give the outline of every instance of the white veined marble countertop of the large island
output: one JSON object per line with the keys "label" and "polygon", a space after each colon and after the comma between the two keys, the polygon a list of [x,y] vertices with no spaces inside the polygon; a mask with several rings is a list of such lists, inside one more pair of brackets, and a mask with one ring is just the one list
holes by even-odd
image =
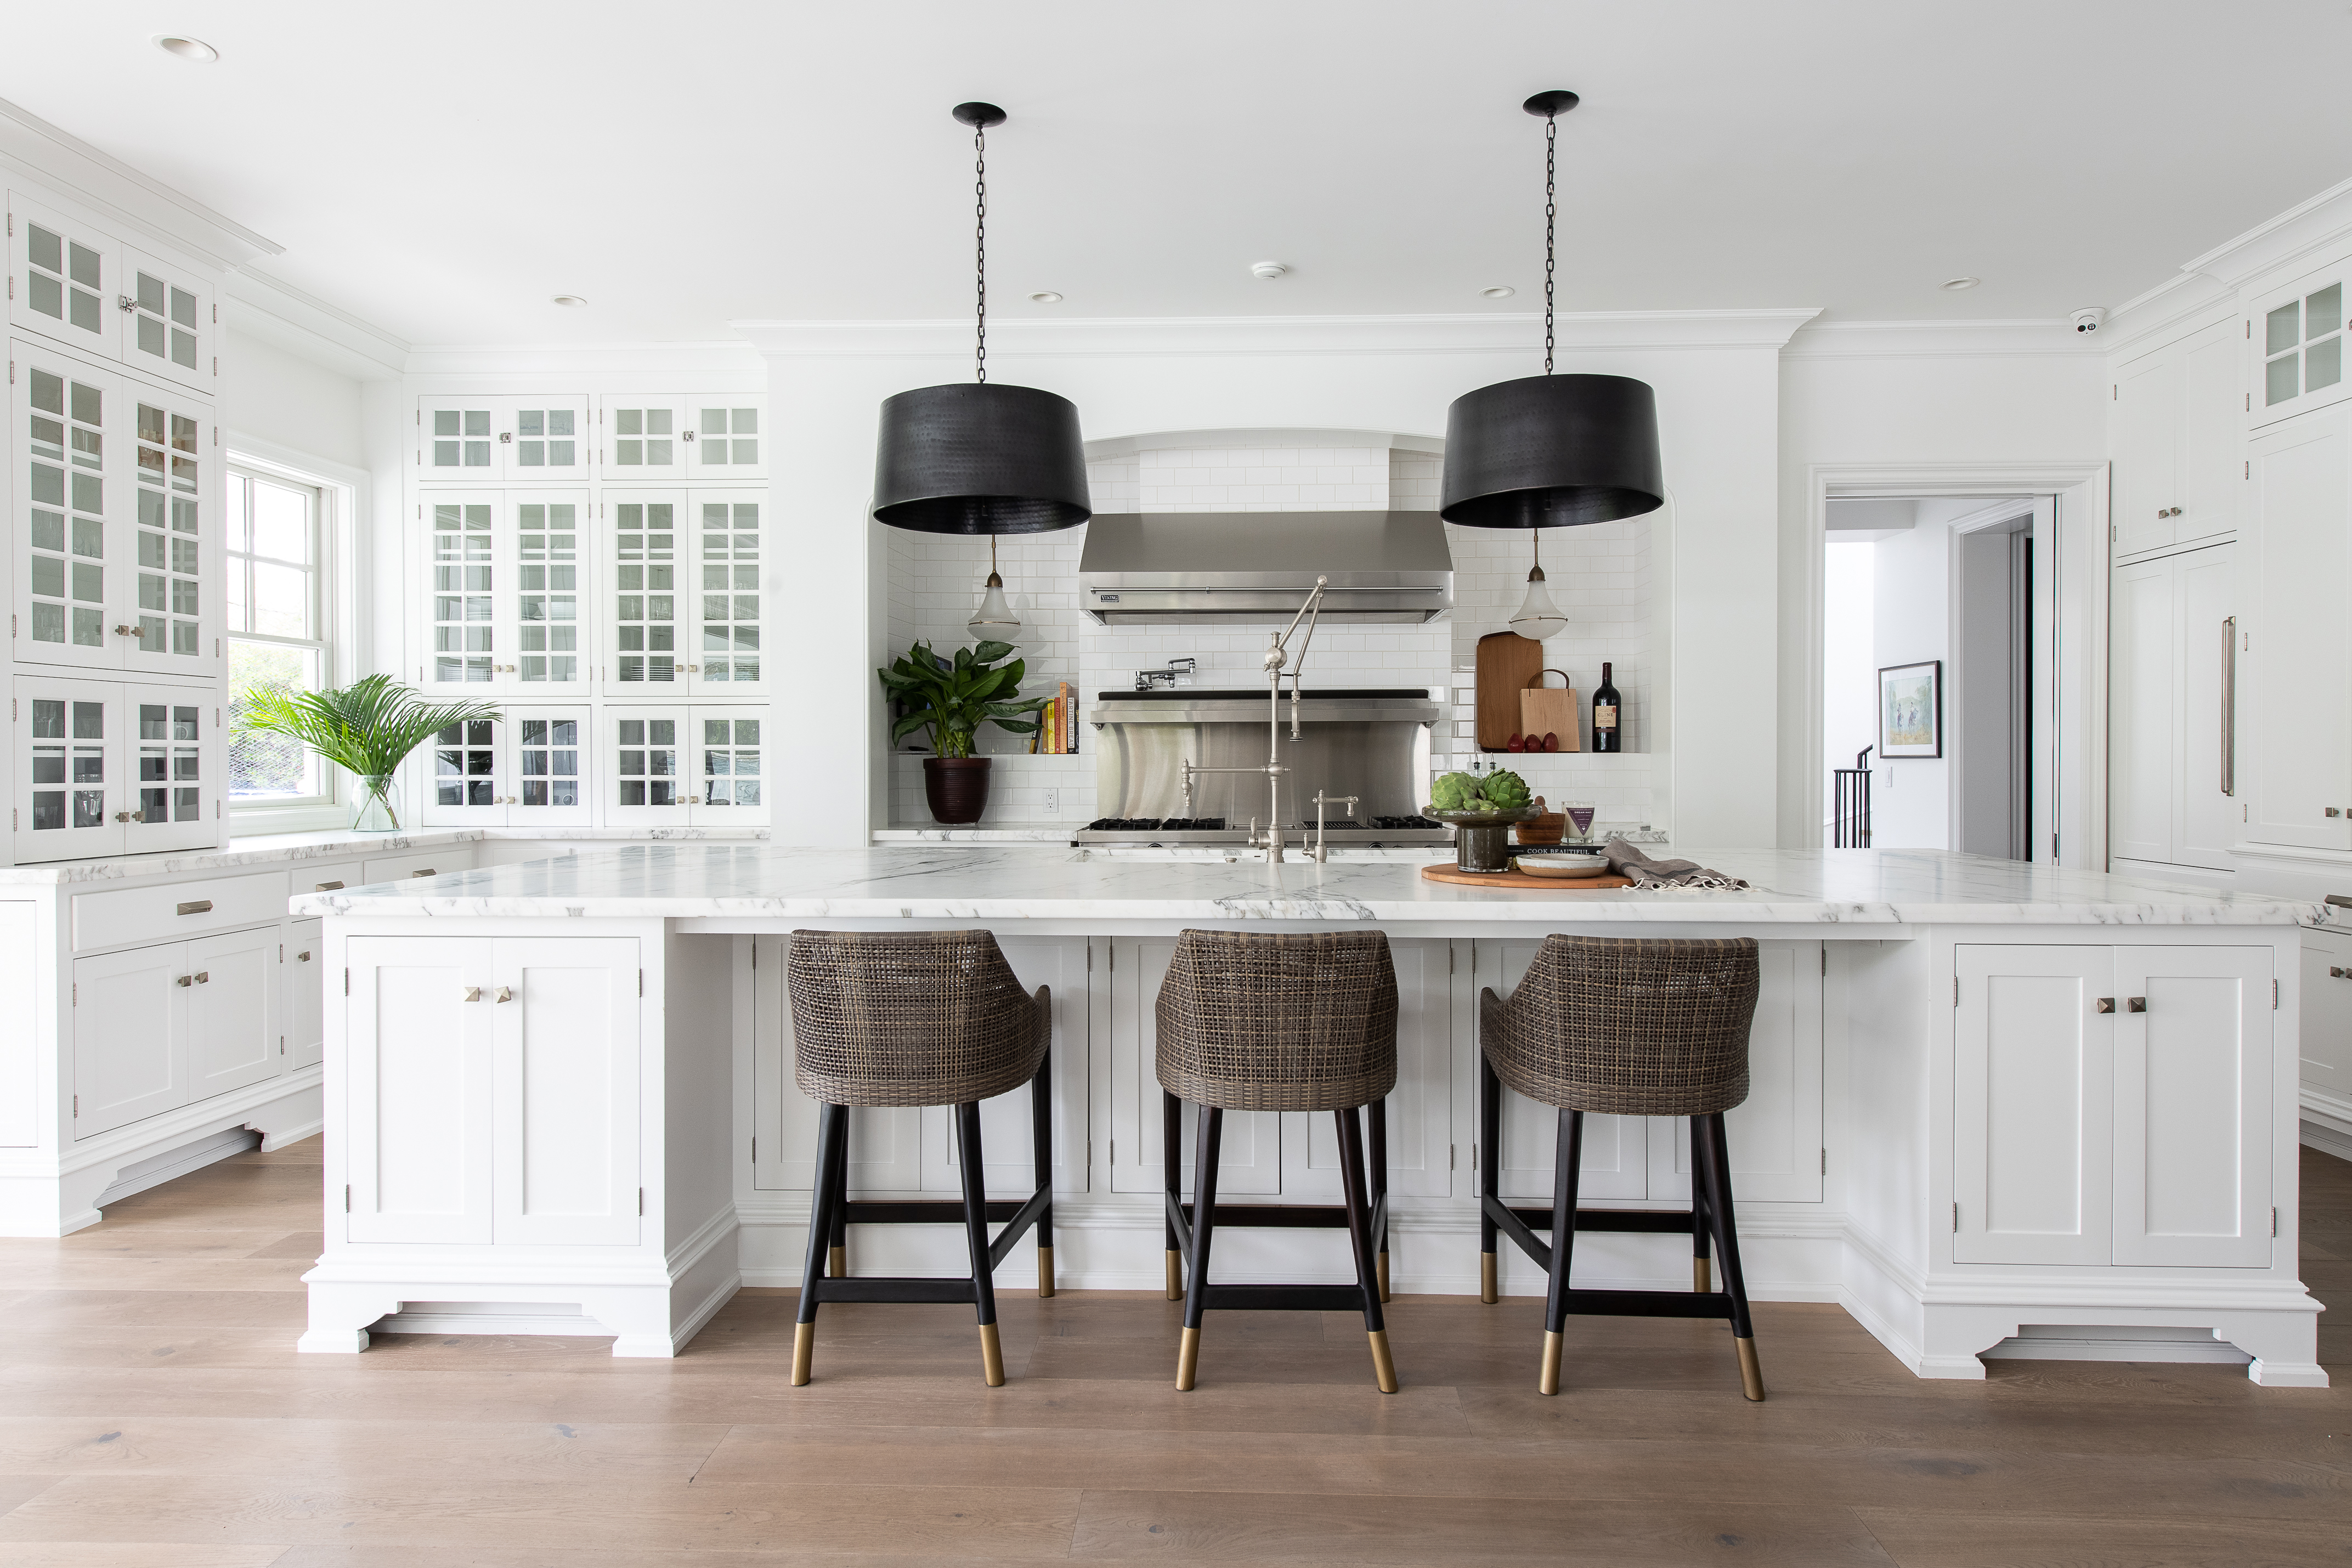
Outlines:
{"label": "white veined marble countertop of the large island", "polygon": [[1512,891],[1416,865],[1061,856],[1033,846],[635,844],[341,893],[296,914],[659,919],[2293,926],[2317,903],[1926,849],[1689,849],[1745,891]]}

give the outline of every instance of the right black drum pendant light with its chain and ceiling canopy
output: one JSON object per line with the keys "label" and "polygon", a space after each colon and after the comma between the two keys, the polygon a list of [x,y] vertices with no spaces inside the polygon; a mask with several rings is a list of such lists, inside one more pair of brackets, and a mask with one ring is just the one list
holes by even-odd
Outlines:
{"label": "right black drum pendant light with its chain and ceiling canopy", "polygon": [[1543,374],[1463,393],[1446,411],[1437,512],[1472,529],[1616,522],[1665,503],[1649,383],[1552,374],[1557,141],[1559,115],[1571,108],[1576,94],[1566,89],[1526,101],[1526,113],[1543,118]]}

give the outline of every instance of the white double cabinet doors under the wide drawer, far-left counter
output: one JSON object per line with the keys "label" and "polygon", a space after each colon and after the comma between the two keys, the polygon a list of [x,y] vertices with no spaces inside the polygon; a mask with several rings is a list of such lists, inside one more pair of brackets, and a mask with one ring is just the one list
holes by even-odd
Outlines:
{"label": "white double cabinet doors under the wide drawer, far-left counter", "polygon": [[278,1077],[278,926],[73,961],[73,1135]]}

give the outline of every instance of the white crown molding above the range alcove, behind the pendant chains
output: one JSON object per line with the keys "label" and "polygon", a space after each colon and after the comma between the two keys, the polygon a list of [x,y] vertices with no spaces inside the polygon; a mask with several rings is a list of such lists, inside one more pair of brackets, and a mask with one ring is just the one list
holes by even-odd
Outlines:
{"label": "white crown molding above the range alcove, behind the pendant chains", "polygon": [[[1557,317],[1562,348],[1773,348],[1818,310],[1597,310]],[[793,360],[962,357],[971,353],[971,322],[729,322],[762,355]],[[1494,355],[1534,357],[1543,317],[1482,315],[1190,315],[1080,317],[1058,322],[997,322],[988,329],[993,357],[1094,355]]]}

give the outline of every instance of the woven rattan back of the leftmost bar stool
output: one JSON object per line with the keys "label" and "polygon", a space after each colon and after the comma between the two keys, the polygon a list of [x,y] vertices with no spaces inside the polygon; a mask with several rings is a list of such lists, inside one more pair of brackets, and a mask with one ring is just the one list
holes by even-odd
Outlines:
{"label": "woven rattan back of the leftmost bar stool", "polygon": [[964,1105],[1018,1088],[1051,1025],[988,931],[795,931],[793,1081],[828,1105]]}

